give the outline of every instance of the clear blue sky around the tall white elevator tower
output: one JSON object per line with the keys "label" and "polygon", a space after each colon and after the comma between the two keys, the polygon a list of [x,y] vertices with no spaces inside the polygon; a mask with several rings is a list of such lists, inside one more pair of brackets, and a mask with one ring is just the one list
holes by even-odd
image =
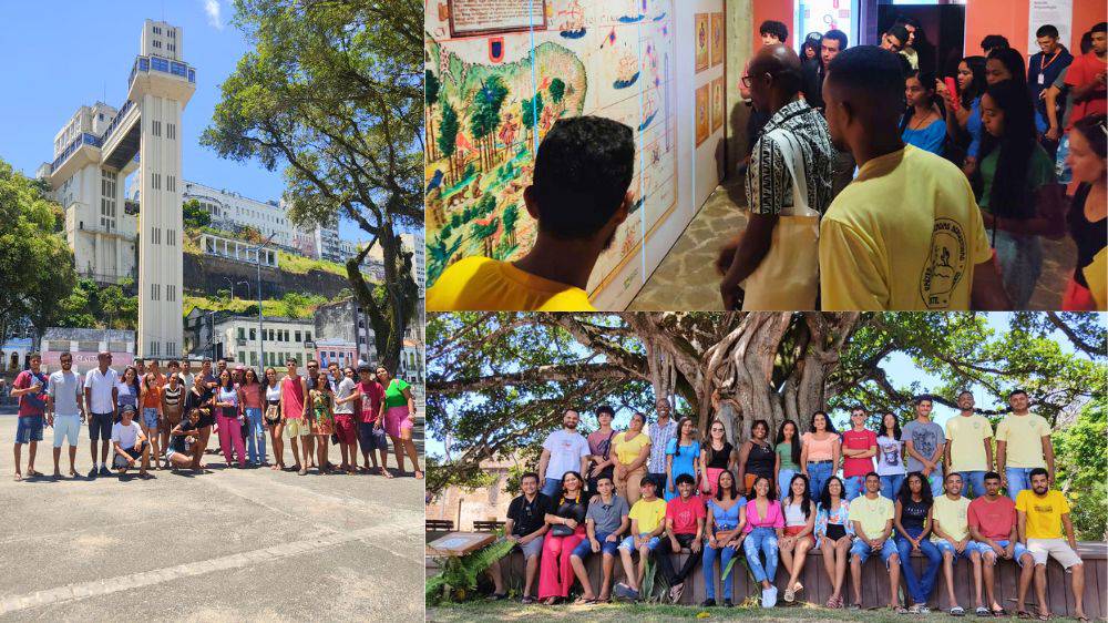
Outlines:
{"label": "clear blue sky around the tall white elevator tower", "polygon": [[[228,0],[112,0],[4,2],[0,35],[0,159],[29,176],[53,160],[54,134],[79,106],[103,101],[121,106],[138,54],[143,20],[164,20],[183,29],[186,62],[196,68],[196,93],[182,121],[184,177],[244,196],[269,201],[285,184],[280,167],[218,157],[199,145],[219,101],[219,85],[248,50],[229,23]],[[352,223],[339,225],[343,238],[367,236]]]}

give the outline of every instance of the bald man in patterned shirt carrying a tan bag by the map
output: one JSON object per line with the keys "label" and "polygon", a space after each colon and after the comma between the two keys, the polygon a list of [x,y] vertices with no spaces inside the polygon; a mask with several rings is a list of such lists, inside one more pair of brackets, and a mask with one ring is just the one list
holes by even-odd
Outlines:
{"label": "bald man in patterned shirt carrying a tan bag by the map", "polygon": [[834,149],[827,121],[800,98],[800,58],[762,48],[742,83],[756,110],[770,116],[747,168],[750,217],[719,292],[727,309],[814,309],[819,294],[819,218],[831,203]]}

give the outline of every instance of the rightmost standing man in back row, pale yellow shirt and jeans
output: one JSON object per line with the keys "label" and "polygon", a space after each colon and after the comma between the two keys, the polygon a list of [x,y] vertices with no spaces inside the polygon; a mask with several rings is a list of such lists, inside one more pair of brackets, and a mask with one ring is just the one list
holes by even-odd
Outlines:
{"label": "rightmost standing man in back row, pale yellow shirt and jeans", "polygon": [[1030,412],[1030,399],[1023,389],[1008,395],[1012,412],[996,425],[996,471],[1004,479],[1008,497],[1015,501],[1030,484],[1032,471],[1046,468],[1054,483],[1054,445],[1050,425]]}

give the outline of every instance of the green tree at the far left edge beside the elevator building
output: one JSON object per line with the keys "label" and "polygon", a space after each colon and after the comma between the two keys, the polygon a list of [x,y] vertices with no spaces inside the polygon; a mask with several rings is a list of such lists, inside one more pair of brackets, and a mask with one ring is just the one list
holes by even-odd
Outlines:
{"label": "green tree at the far left edge beside the elevator building", "polygon": [[25,317],[41,334],[76,284],[61,208],[44,187],[0,161],[0,328]]}

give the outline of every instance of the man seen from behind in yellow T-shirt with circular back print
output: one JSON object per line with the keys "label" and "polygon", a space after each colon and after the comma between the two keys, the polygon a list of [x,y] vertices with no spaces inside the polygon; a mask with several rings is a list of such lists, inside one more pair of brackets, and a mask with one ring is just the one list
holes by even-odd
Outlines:
{"label": "man seen from behind in yellow T-shirt with circular back print", "polygon": [[950,162],[904,145],[903,99],[893,52],[859,45],[828,67],[831,140],[860,170],[820,222],[821,306],[1007,309],[973,190]]}

